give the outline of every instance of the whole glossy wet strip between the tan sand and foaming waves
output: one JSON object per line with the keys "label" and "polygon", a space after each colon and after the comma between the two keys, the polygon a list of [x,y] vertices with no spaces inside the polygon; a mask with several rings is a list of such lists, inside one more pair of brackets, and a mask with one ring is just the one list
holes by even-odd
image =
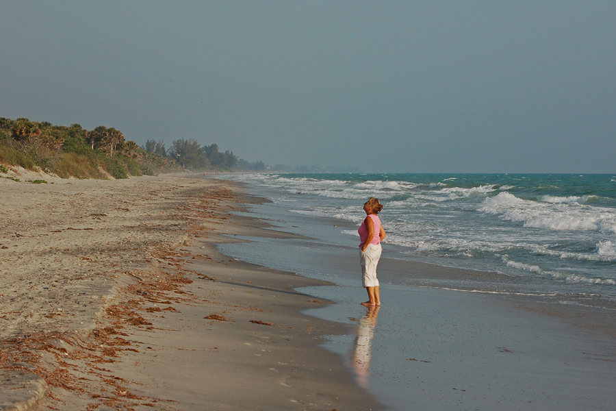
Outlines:
{"label": "whole glossy wet strip between the tan sand and foaming waves", "polygon": [[[611,409],[616,350],[608,314],[515,292],[472,292],[477,280],[494,284],[498,273],[394,260],[387,250],[379,264],[383,306],[370,312],[359,306],[365,291],[355,272],[356,246],[338,233],[338,221],[294,213],[286,203],[249,208],[274,221],[274,230],[292,227],[311,239],[248,238],[249,247],[222,244],[221,251],[334,282],[300,289],[336,303],[309,314],[358,330],[325,347],[350,354],[357,382],[388,409]],[[465,279],[465,290],[443,286]]]}

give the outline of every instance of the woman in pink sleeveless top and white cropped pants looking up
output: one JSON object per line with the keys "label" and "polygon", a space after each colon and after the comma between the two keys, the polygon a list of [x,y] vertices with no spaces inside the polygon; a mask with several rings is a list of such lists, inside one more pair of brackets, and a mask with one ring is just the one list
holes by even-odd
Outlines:
{"label": "woman in pink sleeveless top and white cropped pants looking up", "polygon": [[359,264],[361,264],[362,284],[368,291],[368,301],[361,303],[362,306],[381,306],[381,295],[378,292],[378,279],[376,279],[376,264],[381,258],[381,241],[385,238],[385,230],[378,219],[378,212],[383,210],[381,201],[370,197],[363,203],[365,219],[359,227]]}

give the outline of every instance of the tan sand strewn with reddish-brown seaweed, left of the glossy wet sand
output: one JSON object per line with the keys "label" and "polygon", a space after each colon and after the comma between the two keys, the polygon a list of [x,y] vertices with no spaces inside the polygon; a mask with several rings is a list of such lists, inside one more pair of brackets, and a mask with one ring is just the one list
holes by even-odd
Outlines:
{"label": "tan sand strewn with reddish-brown seaweed, left of the glossy wet sand", "polygon": [[346,326],[300,314],[324,283],[216,250],[287,235],[232,215],[257,201],[238,186],[21,179],[0,179],[0,410],[381,408],[318,347]]}

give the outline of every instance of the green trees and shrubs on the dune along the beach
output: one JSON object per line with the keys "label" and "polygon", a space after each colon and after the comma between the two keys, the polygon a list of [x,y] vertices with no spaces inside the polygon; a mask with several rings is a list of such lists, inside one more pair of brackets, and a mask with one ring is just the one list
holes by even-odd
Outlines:
{"label": "green trees and shrubs on the dune along the beach", "polygon": [[4,117],[0,117],[0,162],[77,178],[126,178],[182,169],[266,169],[263,162],[247,162],[233,151],[222,152],[216,144],[202,146],[194,139],[180,138],[169,149],[155,140],[139,147],[114,127],[86,130],[79,124],[66,127]]}

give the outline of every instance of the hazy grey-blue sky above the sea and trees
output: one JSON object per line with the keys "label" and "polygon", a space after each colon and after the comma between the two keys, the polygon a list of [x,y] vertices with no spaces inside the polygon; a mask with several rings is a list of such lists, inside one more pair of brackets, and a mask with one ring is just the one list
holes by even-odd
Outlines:
{"label": "hazy grey-blue sky above the sea and trees", "polygon": [[0,116],[375,172],[616,172],[616,1],[4,1]]}

